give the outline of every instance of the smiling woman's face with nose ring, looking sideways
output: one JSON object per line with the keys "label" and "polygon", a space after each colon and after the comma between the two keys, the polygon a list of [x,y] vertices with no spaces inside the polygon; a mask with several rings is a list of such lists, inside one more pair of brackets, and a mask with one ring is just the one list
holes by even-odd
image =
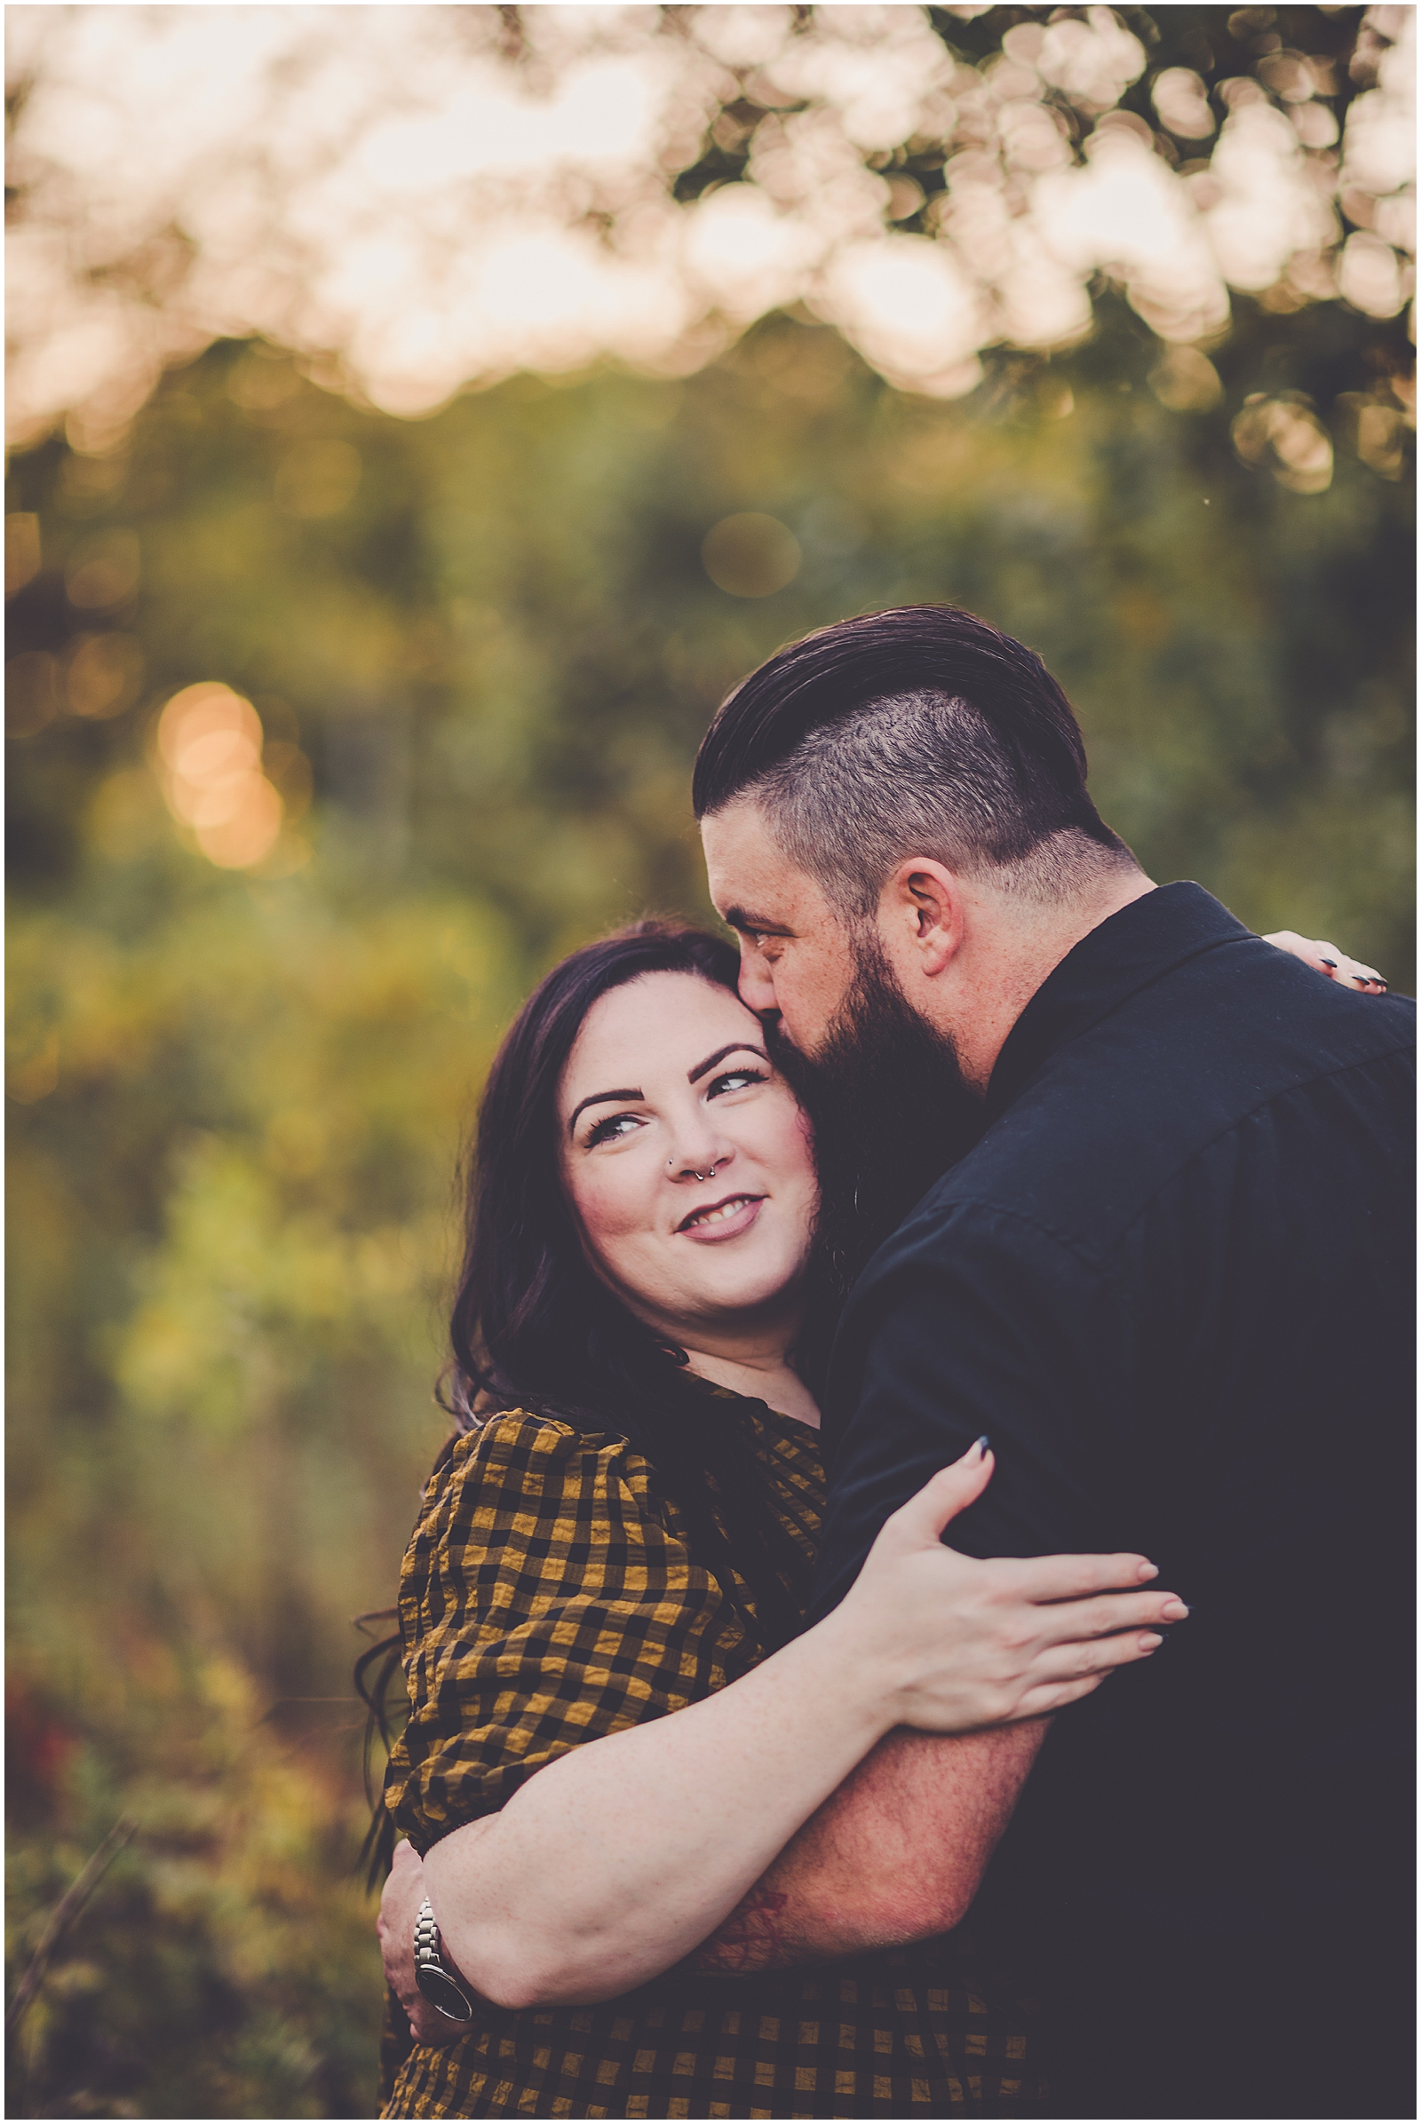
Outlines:
{"label": "smiling woman's face with nose ring, looking sideways", "polygon": [[646,973],[601,996],[563,1070],[559,1136],[588,1253],[652,1328],[695,1342],[797,1308],[809,1128],[729,988]]}

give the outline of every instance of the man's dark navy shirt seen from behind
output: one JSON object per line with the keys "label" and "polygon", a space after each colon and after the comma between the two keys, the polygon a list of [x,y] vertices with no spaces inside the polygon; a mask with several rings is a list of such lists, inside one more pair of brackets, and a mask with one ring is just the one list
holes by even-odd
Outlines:
{"label": "man's dark navy shirt seen from behind", "polygon": [[981,1432],[954,1546],[1143,1551],[1194,1608],[1054,1723],[979,1895],[1054,2011],[1051,2116],[1400,2113],[1328,2105],[1402,2039],[1413,1043],[1415,1005],[1151,892],[850,1298],[818,1612]]}

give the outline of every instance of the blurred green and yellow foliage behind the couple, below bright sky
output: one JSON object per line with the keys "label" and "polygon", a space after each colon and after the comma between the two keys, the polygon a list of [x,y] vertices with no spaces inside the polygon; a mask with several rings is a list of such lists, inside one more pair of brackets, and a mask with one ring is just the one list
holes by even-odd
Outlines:
{"label": "blurred green and yellow foliage behind the couple, below bright sky", "polygon": [[[219,344],[110,455],[13,463],[11,1984],[140,1822],[13,2116],[372,2109],[350,1616],[442,1436],[457,1149],[554,956],[709,913],[690,760],[760,656],[981,612],[1064,680],[1151,875],[1410,986],[1410,489],[1342,444],[1296,493],[1230,440],[1249,393],[1374,391],[1398,327],[1240,310],[1198,412],[1105,302],[962,404],[788,316],[684,380],[421,423]],[[705,571],[741,512],[799,544],[773,595]],[[164,805],[153,724],[202,680],[255,701],[287,799],[251,873]]]}

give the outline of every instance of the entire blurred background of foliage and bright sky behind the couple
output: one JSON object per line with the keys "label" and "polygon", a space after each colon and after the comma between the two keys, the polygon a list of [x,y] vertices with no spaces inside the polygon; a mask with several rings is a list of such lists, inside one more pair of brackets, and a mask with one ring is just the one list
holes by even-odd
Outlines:
{"label": "entire blurred background of foliage and bright sky behind the couple", "polygon": [[138,1822],[8,2103],[370,2116],[452,1172],[552,960],[712,920],[722,695],[962,603],[1151,875],[1410,986],[1415,11],[8,30],[11,1988]]}

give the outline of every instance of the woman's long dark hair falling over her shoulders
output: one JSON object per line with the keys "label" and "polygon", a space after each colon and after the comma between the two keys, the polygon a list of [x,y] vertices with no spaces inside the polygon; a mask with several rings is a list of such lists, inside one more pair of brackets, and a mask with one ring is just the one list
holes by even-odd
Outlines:
{"label": "woman's long dark hair falling over her shoulders", "polygon": [[[465,1247],[442,1400],[457,1432],[527,1408],[627,1438],[680,1506],[724,1595],[737,1597],[737,1574],[750,1587],[760,1642],[773,1648],[799,1629],[788,1585],[801,1557],[769,1506],[752,1425],[688,1370],[686,1351],[599,1281],[559,1172],[557,1094],[573,1043],[601,996],[648,973],[686,973],[735,994],[739,960],[705,930],[635,922],[554,966],[499,1047],[465,1158]],[[382,1735],[395,1648],[387,1638],[357,1667]],[[378,1846],[367,1852],[378,1873]]]}

